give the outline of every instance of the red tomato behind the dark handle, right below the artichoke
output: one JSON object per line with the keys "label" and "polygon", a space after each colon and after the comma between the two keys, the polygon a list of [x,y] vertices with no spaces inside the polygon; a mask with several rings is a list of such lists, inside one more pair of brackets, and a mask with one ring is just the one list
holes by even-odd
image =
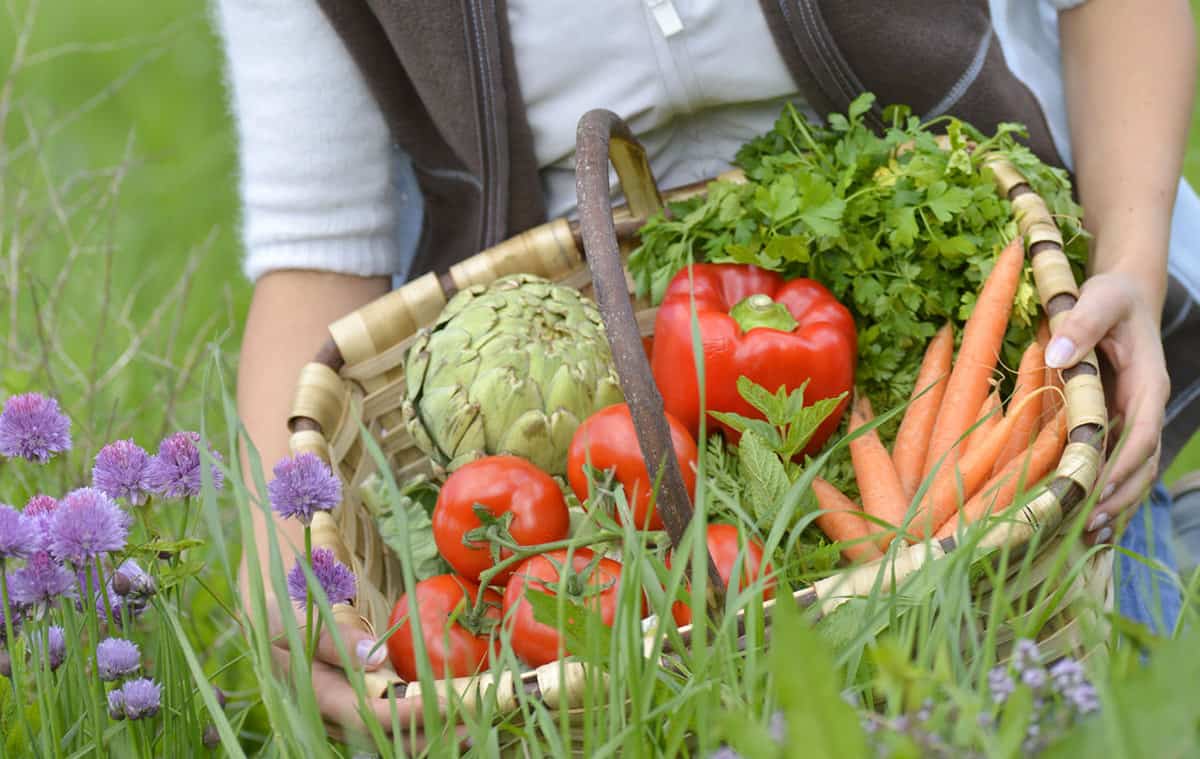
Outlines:
{"label": "red tomato behind the dark handle, right below the artichoke", "polygon": [[[688,497],[691,498],[696,492],[696,441],[671,414],[666,417],[676,460],[683,472]],[[588,477],[583,471],[588,462],[596,471],[616,470],[617,482],[622,484],[634,521],[640,527],[662,530],[662,519],[649,509],[654,480],[646,472],[646,460],[642,459],[628,405],[617,404],[601,408],[588,417],[571,438],[571,447],[566,453],[566,478],[581,503],[586,503],[588,497]],[[620,521],[620,514],[616,516]]]}

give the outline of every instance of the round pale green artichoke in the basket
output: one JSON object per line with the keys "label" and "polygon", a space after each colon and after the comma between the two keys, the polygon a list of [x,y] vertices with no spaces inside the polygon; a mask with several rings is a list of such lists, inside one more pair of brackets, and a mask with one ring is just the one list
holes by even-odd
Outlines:
{"label": "round pale green artichoke in the basket", "polygon": [[443,471],[509,453],[564,474],[575,429],[623,400],[595,304],[526,274],[451,298],[404,380],[406,426]]}

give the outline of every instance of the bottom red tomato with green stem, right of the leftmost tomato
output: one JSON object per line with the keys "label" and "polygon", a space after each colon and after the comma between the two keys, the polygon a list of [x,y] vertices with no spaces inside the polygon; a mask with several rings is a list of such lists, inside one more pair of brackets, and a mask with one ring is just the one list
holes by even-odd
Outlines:
{"label": "bottom red tomato with green stem, right of the leftmost tomato", "polygon": [[[596,609],[605,624],[612,626],[617,616],[617,588],[620,563],[601,558],[588,570],[595,555],[586,548],[571,555],[565,588],[570,600]],[[559,567],[566,568],[566,551],[550,551],[523,561],[504,588],[504,618],[512,629],[512,651],[533,667],[548,664],[565,656],[564,643],[557,629],[534,620],[533,606],[526,600],[526,588],[558,596]]]}

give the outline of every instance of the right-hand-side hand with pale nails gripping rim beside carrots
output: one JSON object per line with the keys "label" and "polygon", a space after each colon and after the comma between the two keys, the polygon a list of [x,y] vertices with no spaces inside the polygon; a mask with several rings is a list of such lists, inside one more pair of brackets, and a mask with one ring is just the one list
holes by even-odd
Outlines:
{"label": "right-hand-side hand with pale nails gripping rim beside carrots", "polygon": [[1159,331],[1162,304],[1153,303],[1138,277],[1120,271],[1084,282],[1079,303],[1062,319],[1046,347],[1046,365],[1064,369],[1098,348],[1116,458],[1102,474],[1100,498],[1085,539],[1106,543],[1132,515],[1158,473],[1163,416],[1170,393]]}

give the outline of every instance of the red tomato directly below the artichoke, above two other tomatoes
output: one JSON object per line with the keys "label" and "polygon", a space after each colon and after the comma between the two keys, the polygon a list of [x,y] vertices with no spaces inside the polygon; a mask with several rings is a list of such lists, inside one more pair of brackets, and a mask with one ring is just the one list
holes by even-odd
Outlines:
{"label": "red tomato directly below the artichoke, above two other tomatoes", "polygon": [[[524,459],[486,456],[455,470],[433,507],[433,540],[455,572],[474,581],[494,564],[486,540],[474,540],[473,546],[464,543],[482,524],[476,503],[494,516],[511,514],[509,534],[518,545],[562,540],[571,526],[558,483]],[[511,555],[508,549],[500,551],[502,558]],[[511,574],[511,569],[502,572],[492,584],[503,585]]]}

